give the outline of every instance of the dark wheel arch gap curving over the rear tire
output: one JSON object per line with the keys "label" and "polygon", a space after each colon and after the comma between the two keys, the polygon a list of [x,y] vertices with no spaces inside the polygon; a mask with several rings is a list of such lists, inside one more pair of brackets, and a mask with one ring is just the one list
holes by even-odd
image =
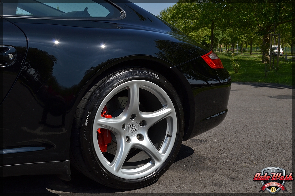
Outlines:
{"label": "dark wheel arch gap curving over the rear tire", "polygon": [[[102,67],[99,67],[98,69],[95,68],[91,71],[91,77],[88,78],[87,82],[83,85],[83,88],[81,88],[79,96],[77,97],[76,103],[73,107],[77,108],[80,100],[90,90],[90,88],[92,88],[92,86],[94,86],[99,80],[107,76],[108,73],[112,72],[112,70],[119,70],[124,67],[134,66],[148,68],[160,73],[175,88],[183,106],[185,125],[183,139],[187,140],[186,138],[188,138],[188,134],[191,133],[195,119],[195,112],[194,109],[192,109],[195,108],[193,93],[189,82],[183,73],[173,64],[160,58],[144,55],[129,56],[112,61]],[[75,112],[72,114],[72,119],[74,119],[74,115]],[[71,134],[69,134],[69,136],[70,135]]]}

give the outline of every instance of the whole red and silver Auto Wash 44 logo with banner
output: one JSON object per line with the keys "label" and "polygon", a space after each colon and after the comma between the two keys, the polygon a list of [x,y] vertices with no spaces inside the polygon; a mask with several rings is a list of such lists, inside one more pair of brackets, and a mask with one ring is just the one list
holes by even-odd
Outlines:
{"label": "whole red and silver Auto Wash 44 logo with banner", "polygon": [[[287,191],[284,187],[286,181],[293,180],[293,173],[286,175],[286,170],[280,167],[266,167],[261,172],[256,173],[253,180],[261,181],[262,187],[260,191],[267,190],[271,194],[277,193],[279,190]],[[259,192],[260,192],[259,191]],[[287,191],[288,192],[288,191]]]}

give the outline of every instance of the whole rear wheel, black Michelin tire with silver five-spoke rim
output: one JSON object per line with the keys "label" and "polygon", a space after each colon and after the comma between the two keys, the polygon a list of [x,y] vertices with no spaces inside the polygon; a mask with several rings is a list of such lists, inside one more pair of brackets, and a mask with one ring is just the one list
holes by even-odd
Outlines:
{"label": "whole rear wheel, black Michelin tire with silver five-spoke rim", "polygon": [[[104,106],[112,118],[101,116]],[[110,73],[85,94],[77,107],[71,163],[109,187],[145,187],[163,175],[176,158],[183,138],[183,119],[175,89],[159,73],[145,68]],[[98,136],[98,128],[104,133],[108,129],[106,133],[112,136],[105,153],[98,144],[102,134]]]}

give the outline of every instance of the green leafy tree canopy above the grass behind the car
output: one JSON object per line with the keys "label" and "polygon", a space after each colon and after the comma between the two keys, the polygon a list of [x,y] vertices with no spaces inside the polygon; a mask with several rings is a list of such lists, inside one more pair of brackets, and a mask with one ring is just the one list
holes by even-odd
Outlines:
{"label": "green leafy tree canopy above the grass behind the car", "polygon": [[218,43],[232,49],[237,43],[242,47],[258,46],[263,51],[263,62],[269,60],[270,33],[281,33],[282,45],[294,45],[291,3],[229,2],[179,0],[161,11],[159,17],[211,49]]}

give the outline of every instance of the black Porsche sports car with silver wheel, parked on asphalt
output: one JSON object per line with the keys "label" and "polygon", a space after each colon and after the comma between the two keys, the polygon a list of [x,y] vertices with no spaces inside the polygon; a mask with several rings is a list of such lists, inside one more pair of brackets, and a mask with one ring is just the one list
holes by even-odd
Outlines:
{"label": "black Porsche sports car with silver wheel, parked on asphalt", "polygon": [[72,164],[109,187],[143,187],[227,114],[218,56],[129,1],[0,10],[3,176],[70,180]]}

